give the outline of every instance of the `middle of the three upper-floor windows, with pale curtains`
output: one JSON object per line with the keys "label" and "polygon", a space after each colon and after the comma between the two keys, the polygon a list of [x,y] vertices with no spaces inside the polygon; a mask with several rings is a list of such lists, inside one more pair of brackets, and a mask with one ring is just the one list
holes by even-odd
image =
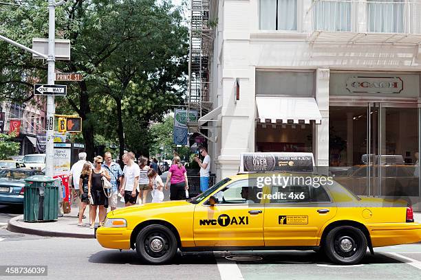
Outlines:
{"label": "middle of the three upper-floor windows, with pale curtains", "polygon": [[314,30],[351,30],[351,1],[314,1]]}

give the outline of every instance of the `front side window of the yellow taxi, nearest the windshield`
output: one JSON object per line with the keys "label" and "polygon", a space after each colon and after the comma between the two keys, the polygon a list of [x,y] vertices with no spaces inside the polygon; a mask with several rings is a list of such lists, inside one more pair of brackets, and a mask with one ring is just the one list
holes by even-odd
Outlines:
{"label": "front side window of the yellow taxi, nearest the windshield", "polygon": [[255,180],[239,180],[218,191],[214,196],[218,205],[259,203],[258,191],[261,189],[256,187]]}

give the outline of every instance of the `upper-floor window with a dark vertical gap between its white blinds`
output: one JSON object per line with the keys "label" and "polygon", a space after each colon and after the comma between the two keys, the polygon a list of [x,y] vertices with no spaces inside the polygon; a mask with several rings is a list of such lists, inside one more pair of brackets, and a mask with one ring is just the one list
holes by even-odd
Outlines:
{"label": "upper-floor window with a dark vertical gap between its white blinds", "polygon": [[260,0],[260,30],[297,30],[298,0]]}

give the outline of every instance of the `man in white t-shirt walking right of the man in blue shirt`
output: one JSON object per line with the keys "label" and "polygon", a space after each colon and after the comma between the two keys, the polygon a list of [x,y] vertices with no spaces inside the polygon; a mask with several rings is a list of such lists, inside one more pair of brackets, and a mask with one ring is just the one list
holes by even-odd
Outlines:
{"label": "man in white t-shirt walking right of the man in blue shirt", "polygon": [[128,152],[123,154],[122,160],[126,164],[123,169],[123,174],[125,174],[122,186],[120,188],[120,194],[125,196],[125,206],[136,205],[136,198],[139,194],[139,176],[140,176],[140,167],[134,162],[135,155],[133,152]]}

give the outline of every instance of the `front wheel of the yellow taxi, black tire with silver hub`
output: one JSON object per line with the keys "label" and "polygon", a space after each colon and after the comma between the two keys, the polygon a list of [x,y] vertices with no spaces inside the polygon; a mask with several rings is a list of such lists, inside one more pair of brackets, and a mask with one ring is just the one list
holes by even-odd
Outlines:
{"label": "front wheel of the yellow taxi, black tire with silver hub", "polygon": [[149,264],[164,264],[177,253],[177,239],[166,226],[150,224],[136,237],[136,253]]}

